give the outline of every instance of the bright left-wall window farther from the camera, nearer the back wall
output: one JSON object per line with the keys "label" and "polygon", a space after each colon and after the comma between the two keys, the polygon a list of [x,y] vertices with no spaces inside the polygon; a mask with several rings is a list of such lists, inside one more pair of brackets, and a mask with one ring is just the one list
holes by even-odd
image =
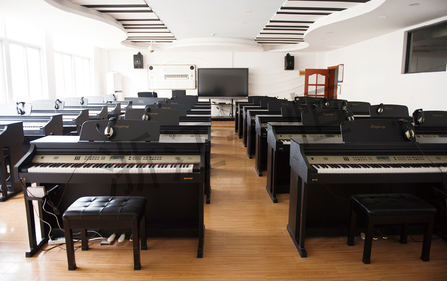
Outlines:
{"label": "bright left-wall window farther from the camera, nearer the back wall", "polygon": [[91,96],[90,59],[55,52],[56,96]]}

